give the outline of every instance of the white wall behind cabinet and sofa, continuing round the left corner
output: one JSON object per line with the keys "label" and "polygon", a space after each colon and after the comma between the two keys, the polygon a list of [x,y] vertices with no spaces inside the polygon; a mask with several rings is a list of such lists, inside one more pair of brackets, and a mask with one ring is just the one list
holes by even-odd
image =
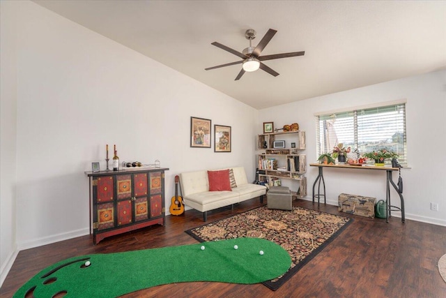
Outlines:
{"label": "white wall behind cabinet and sofa, continuing round the left corner", "polygon": [[[89,233],[84,171],[93,161],[105,169],[105,144],[116,144],[121,161],[169,167],[167,207],[183,171],[243,165],[254,180],[252,107],[31,1],[1,1],[2,46],[7,6],[17,8],[17,16],[4,12],[17,42],[5,54],[17,56],[17,67],[2,63],[1,82],[17,74],[17,87],[1,93],[2,267],[16,243],[24,249]],[[231,153],[190,148],[191,116],[231,126]]]}

